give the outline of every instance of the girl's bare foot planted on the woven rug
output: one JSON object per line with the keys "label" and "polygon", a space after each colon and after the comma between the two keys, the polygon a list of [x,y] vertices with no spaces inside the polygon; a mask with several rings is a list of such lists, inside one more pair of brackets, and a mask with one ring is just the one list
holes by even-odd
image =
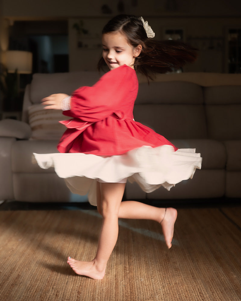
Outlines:
{"label": "girl's bare foot planted on the woven rug", "polygon": [[79,261],[68,257],[67,263],[71,266],[73,271],[78,275],[90,277],[92,279],[103,279],[105,276],[105,269],[99,270],[96,267],[95,261]]}

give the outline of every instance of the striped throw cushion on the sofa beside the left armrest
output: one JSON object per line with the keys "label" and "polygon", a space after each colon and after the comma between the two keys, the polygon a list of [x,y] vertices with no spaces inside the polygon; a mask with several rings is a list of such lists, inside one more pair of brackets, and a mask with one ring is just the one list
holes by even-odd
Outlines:
{"label": "striped throw cushion on the sofa beside the left armrest", "polygon": [[33,104],[29,107],[28,113],[32,139],[60,139],[66,127],[59,121],[70,119],[70,117],[64,116],[61,110],[44,110],[42,104]]}

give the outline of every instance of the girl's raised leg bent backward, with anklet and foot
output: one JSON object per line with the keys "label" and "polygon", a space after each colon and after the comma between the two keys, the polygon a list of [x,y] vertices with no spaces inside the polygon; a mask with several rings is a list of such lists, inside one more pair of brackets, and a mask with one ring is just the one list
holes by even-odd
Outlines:
{"label": "girl's raised leg bent backward, with anklet and foot", "polygon": [[123,219],[150,219],[161,223],[162,232],[170,249],[174,233],[174,224],[177,219],[177,210],[174,208],[158,208],[136,201],[121,202],[119,218]]}

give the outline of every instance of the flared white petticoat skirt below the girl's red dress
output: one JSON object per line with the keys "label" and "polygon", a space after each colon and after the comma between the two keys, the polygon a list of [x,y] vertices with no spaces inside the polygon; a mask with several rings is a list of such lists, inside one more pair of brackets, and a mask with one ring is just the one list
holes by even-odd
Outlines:
{"label": "flared white petticoat skirt below the girl's red dress", "polygon": [[96,180],[117,183],[124,178],[137,182],[145,192],[163,186],[167,190],[192,178],[201,169],[202,158],[195,149],[174,151],[171,145],[142,146],[122,155],[96,156],[83,153],[34,154],[43,169],[54,167],[65,178],[71,192],[85,195],[96,205]]}

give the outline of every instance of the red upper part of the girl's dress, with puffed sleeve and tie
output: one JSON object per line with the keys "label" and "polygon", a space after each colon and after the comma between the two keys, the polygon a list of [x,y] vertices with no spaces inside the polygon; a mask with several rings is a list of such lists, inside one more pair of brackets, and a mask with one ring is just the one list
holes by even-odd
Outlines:
{"label": "red upper part of the girl's dress, with puffed sleeve and tie", "polygon": [[71,109],[63,111],[73,119],[61,121],[68,129],[58,150],[112,156],[144,145],[174,147],[163,136],[133,120],[137,92],[136,72],[126,65],[105,73],[92,87],[74,91]]}

